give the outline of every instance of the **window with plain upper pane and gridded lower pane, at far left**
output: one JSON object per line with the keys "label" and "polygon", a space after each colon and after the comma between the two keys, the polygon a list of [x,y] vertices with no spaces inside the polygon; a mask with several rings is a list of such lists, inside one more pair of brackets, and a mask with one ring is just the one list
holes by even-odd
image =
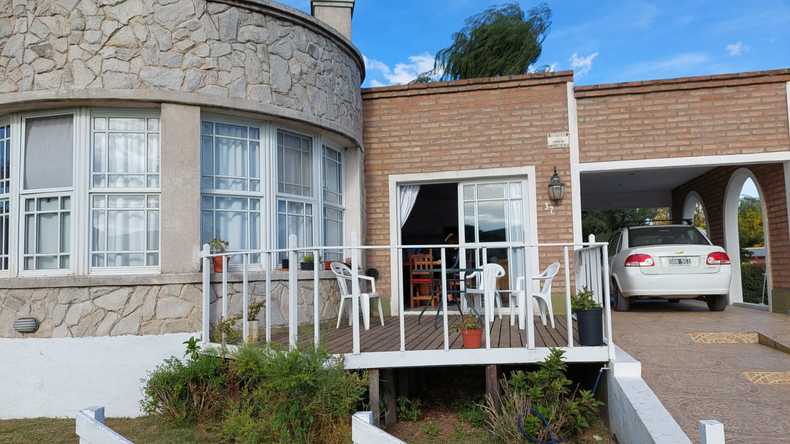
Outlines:
{"label": "window with plain upper pane and gridded lower pane, at far left", "polygon": [[24,120],[22,267],[69,270],[74,116]]}

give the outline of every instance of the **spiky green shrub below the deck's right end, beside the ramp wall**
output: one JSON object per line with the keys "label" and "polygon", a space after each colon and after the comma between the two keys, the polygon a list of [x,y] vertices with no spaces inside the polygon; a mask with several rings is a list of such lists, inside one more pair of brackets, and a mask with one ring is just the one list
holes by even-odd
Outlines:
{"label": "spiky green shrub below the deck's right end, beside the ramp wall", "polygon": [[527,442],[522,430],[537,442],[551,435],[569,439],[590,427],[602,404],[567,378],[562,356],[561,350],[552,349],[537,370],[515,371],[509,380],[503,378],[499,399],[486,397],[486,422],[497,439]]}

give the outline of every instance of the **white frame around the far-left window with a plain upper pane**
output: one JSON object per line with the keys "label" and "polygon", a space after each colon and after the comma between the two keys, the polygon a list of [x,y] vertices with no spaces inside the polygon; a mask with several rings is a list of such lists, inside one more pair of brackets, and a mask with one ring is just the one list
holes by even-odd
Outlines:
{"label": "white frame around the far-left window with a plain upper pane", "polygon": [[[57,116],[72,116],[72,132],[73,132],[73,156],[72,156],[72,185],[70,187],[62,187],[62,188],[47,188],[47,189],[35,189],[35,190],[25,190],[24,189],[24,173],[25,173],[25,134],[26,134],[26,125],[27,121],[30,119],[37,119],[37,118],[44,118],[44,117],[57,117]],[[12,142],[12,145],[16,145],[15,149],[13,150],[17,157],[17,168],[15,169],[16,173],[16,180],[14,180],[14,176],[12,175],[12,189],[15,193],[12,193],[13,196],[13,204],[12,209],[15,214],[12,214],[14,217],[14,221],[16,221],[16,233],[15,233],[15,240],[16,240],[16,251],[13,254],[15,257],[16,267],[14,271],[19,276],[67,276],[71,274],[75,274],[80,269],[80,259],[82,256],[82,251],[79,248],[79,241],[77,236],[77,229],[76,227],[80,226],[79,222],[79,214],[81,213],[81,209],[83,208],[80,205],[79,193],[77,192],[80,187],[80,176],[82,171],[84,171],[84,165],[82,165],[81,160],[84,158],[84,134],[80,131],[81,123],[84,124],[83,119],[85,118],[85,111],[81,109],[62,109],[62,110],[49,110],[49,111],[41,111],[35,113],[28,113],[21,115],[18,121],[18,131],[14,132],[12,128],[12,138],[13,134],[16,134],[16,143]],[[12,159],[13,159],[12,154]],[[13,164],[13,160],[12,160]],[[13,166],[13,165],[12,165]],[[71,251],[69,252],[69,267],[68,268],[58,268],[58,269],[48,269],[48,270],[25,270],[24,267],[24,257],[25,257],[25,211],[22,210],[22,205],[24,200],[27,198],[32,197],[53,197],[53,196],[68,196],[71,202],[71,227],[69,230],[68,235],[70,236],[69,245],[71,246]]]}

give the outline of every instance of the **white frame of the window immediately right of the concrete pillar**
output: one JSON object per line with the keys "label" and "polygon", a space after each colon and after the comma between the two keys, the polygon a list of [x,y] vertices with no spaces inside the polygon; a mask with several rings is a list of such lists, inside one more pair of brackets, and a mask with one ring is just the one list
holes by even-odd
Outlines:
{"label": "white frame of the window immediately right of the concrete pillar", "polygon": [[[260,189],[259,191],[243,191],[243,190],[225,190],[225,189],[204,189],[203,188],[203,147],[202,147],[202,138],[203,138],[203,122],[212,122],[212,123],[221,123],[225,125],[235,125],[235,126],[246,126],[248,128],[257,128],[258,129],[258,171],[260,180]],[[201,242],[207,242],[207,240],[202,239],[203,237],[203,197],[230,197],[230,198],[244,198],[244,199],[260,199],[261,203],[259,206],[259,216],[258,216],[258,236],[260,241],[260,250],[264,250],[269,246],[269,239],[271,236],[271,231],[265,230],[266,226],[270,225],[270,219],[268,215],[270,214],[270,207],[272,202],[272,188],[271,188],[271,172],[270,167],[271,165],[271,156],[269,153],[271,152],[271,145],[270,145],[270,127],[265,122],[245,119],[245,118],[237,118],[233,116],[225,116],[220,114],[203,114],[200,117],[200,135],[199,140],[201,146],[199,149],[201,150],[201,161],[200,161],[200,236]],[[251,140],[251,139],[250,139]],[[213,162],[213,161],[212,161]],[[249,168],[249,167],[248,167]],[[249,179],[249,176],[248,176]],[[216,210],[212,210],[215,213],[216,218]],[[245,213],[250,214],[252,210],[243,210]],[[216,220],[216,219],[215,219]],[[214,224],[216,227],[216,224]],[[252,225],[249,224],[248,221],[248,230],[252,229]],[[248,233],[249,238],[249,233]],[[210,239],[209,239],[210,240]],[[231,245],[230,250],[238,250],[232,248]],[[258,249],[252,248],[249,250],[257,251]],[[254,268],[262,268],[261,264],[250,264],[250,266]],[[232,264],[231,269],[238,268],[238,264]]]}

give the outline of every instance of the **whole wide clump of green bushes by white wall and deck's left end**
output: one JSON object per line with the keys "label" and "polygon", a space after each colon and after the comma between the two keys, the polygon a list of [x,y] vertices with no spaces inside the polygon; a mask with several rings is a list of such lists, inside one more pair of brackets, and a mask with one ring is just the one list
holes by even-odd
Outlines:
{"label": "whole wide clump of green bushes by white wall and deck's left end", "polygon": [[222,425],[224,441],[347,442],[367,381],[316,351],[240,347],[228,357],[171,357],[149,375],[143,410],[178,425]]}

